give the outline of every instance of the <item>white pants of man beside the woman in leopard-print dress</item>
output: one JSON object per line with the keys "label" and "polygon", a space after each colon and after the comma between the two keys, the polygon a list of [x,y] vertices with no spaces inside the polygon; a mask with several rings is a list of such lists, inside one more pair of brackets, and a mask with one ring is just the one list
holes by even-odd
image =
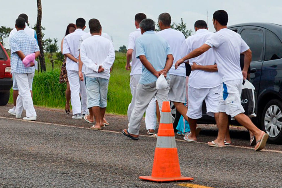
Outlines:
{"label": "white pants of man beside the woman in leopard-print dress", "polygon": [[[79,80],[78,71],[67,70],[68,82],[70,84],[70,102],[73,106],[73,115],[75,114],[87,114],[87,94],[85,82]],[[81,95],[81,101],[79,97]],[[82,104],[81,104],[82,103]]]}

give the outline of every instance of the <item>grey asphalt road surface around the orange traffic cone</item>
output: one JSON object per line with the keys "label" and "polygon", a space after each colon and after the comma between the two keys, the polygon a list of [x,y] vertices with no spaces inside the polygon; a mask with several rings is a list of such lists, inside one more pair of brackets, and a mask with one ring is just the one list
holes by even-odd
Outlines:
{"label": "grey asphalt road surface around the orange traffic cone", "polygon": [[[156,139],[123,136],[124,116],[107,115],[111,125],[95,131],[61,110],[37,108],[38,121],[27,122],[6,115],[7,109],[0,107],[0,187],[188,187],[138,179],[151,174]],[[191,183],[282,187],[280,145],[267,145],[268,151],[260,152],[241,146],[208,147],[203,142],[214,139],[215,126],[201,126],[199,143],[176,141],[182,175],[194,177]],[[234,144],[247,145],[246,130],[233,127],[231,132]]]}

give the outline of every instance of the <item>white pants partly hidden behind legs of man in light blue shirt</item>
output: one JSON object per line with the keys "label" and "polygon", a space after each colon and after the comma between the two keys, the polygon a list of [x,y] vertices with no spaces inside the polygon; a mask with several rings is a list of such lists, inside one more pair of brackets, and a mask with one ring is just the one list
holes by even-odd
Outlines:
{"label": "white pants partly hidden behind legs of man in light blue shirt", "polygon": [[[130,76],[130,91],[132,94],[132,100],[131,103],[128,105],[127,109],[127,117],[128,121],[130,121],[130,117],[134,108],[135,100],[136,100],[136,91],[137,91],[137,85],[139,83],[141,74],[136,74],[136,75],[131,75]],[[156,123],[157,123],[157,114],[156,114],[156,99],[153,98],[151,102],[149,103],[147,109],[146,109],[146,114],[145,114],[145,124],[146,124],[146,129],[155,129],[156,128]]]}

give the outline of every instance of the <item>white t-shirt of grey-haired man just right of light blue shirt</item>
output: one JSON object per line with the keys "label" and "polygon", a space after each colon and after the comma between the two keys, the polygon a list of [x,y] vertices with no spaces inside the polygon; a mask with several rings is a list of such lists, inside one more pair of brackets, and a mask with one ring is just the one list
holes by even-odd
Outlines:
{"label": "white t-shirt of grey-haired man just right of light blue shirt", "polygon": [[175,69],[174,66],[177,60],[181,59],[180,47],[185,40],[184,34],[172,28],[161,30],[157,32],[157,34],[161,35],[169,43],[170,50],[172,51],[172,55],[174,57],[173,65],[169,70],[169,74],[186,77],[185,64],[181,64],[177,69]]}

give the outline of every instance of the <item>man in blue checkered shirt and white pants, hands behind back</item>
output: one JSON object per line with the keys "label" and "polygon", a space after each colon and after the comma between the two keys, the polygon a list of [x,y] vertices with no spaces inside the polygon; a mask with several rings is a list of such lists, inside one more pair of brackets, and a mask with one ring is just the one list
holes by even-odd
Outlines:
{"label": "man in blue checkered shirt and white pants, hands behind back", "polygon": [[33,101],[30,93],[30,86],[34,77],[34,63],[30,67],[25,67],[22,60],[26,55],[35,53],[35,58],[40,55],[39,47],[36,39],[30,37],[24,32],[25,20],[18,18],[16,20],[17,32],[10,37],[9,44],[11,47],[11,72],[15,76],[19,95],[16,104],[16,118],[20,118],[22,110],[26,110],[26,117],[24,120],[36,120],[36,112],[33,106]]}

